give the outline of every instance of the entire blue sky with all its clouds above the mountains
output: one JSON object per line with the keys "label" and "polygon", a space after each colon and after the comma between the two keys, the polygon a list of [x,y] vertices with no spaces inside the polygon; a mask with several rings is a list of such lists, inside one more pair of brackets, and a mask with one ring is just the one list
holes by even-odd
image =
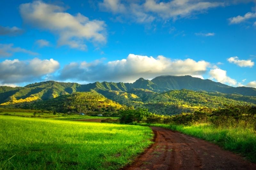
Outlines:
{"label": "entire blue sky with all its clouds above the mountains", "polygon": [[0,1],[0,85],[192,75],[256,88],[256,2]]}

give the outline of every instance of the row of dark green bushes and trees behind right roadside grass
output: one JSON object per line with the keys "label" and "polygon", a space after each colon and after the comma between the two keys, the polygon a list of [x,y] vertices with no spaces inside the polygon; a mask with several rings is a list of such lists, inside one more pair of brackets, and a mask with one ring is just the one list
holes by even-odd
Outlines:
{"label": "row of dark green bushes and trees behind right roadside grass", "polygon": [[256,130],[256,107],[226,105],[225,108],[202,108],[194,113],[182,113],[167,116],[148,112],[147,109],[120,111],[120,123],[164,123],[164,124],[196,124],[212,123],[216,126],[244,128],[254,127]]}

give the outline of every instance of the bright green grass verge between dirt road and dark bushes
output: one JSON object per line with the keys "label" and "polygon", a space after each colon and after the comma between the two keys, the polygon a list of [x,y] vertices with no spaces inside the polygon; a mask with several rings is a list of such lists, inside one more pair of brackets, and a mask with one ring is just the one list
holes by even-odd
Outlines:
{"label": "bright green grass verge between dirt road and dark bushes", "polygon": [[253,128],[216,127],[209,123],[191,125],[140,123],[140,125],[163,127],[201,138],[226,150],[240,153],[256,163],[256,131]]}

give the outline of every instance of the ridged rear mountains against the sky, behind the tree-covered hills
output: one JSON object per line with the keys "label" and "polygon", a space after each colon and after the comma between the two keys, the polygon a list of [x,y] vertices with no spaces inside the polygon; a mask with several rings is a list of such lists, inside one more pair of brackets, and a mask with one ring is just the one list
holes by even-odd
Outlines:
{"label": "ridged rear mountains against the sky, behind the tree-covered hills", "polygon": [[[191,76],[158,76],[154,79],[138,79],[134,83],[95,82],[80,85],[78,83],[64,83],[45,81],[29,84],[25,87],[0,87],[0,103],[10,100],[26,99],[31,95],[42,100],[48,100],[57,96],[71,94],[74,92],[86,92],[91,89],[106,93],[104,91],[122,91],[130,93],[132,89],[147,89],[153,92],[164,92],[169,90],[204,90],[208,92],[221,92],[225,94],[237,94],[243,96],[256,96],[256,89],[249,87],[231,87],[211,80],[203,80]],[[135,94],[136,95],[136,94]],[[145,99],[141,99],[145,100]]]}

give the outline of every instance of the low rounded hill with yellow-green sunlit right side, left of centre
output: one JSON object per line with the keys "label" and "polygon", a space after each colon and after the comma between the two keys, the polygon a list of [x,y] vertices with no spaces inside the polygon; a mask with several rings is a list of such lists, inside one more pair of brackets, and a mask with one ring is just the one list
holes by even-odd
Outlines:
{"label": "low rounded hill with yellow-green sunlit right side, left of centre", "polygon": [[62,95],[47,101],[25,105],[24,108],[52,110],[61,113],[92,113],[116,112],[124,110],[125,106],[107,99],[97,92],[76,92],[71,95]]}

